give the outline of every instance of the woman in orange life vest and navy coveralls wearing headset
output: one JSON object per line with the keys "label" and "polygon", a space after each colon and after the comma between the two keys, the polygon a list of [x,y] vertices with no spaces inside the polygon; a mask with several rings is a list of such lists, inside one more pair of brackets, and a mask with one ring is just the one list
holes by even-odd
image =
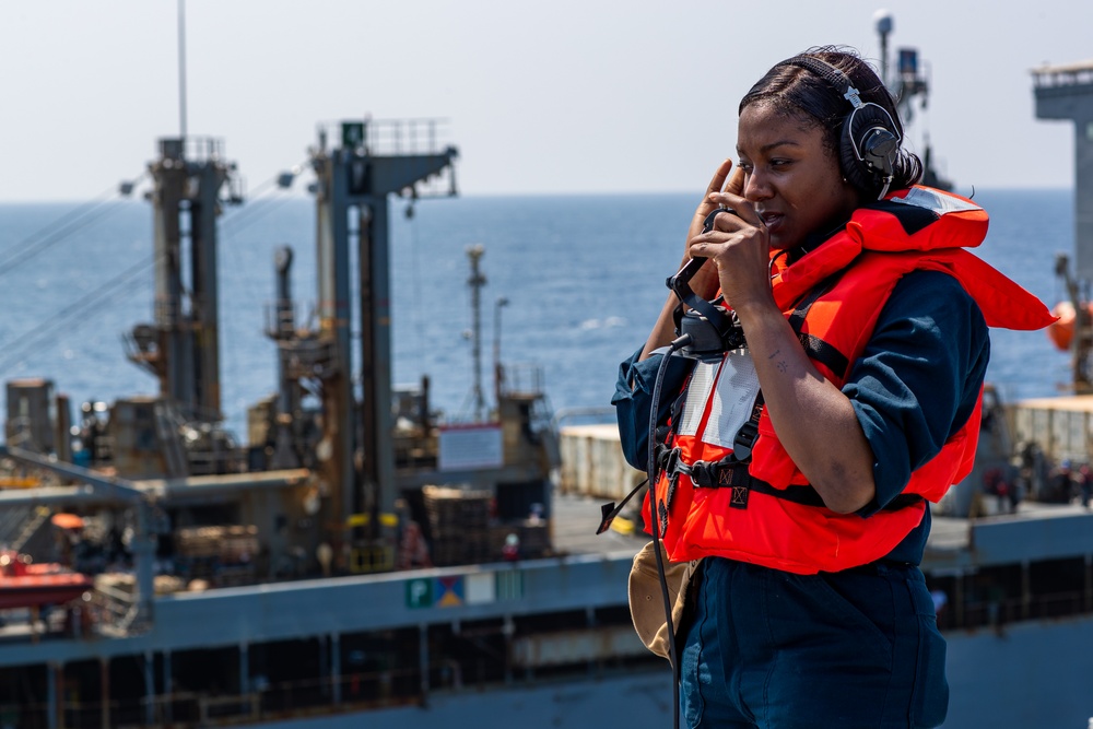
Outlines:
{"label": "woman in orange life vest and navy coveralls wearing headset", "polygon": [[[707,259],[691,287],[724,296],[745,345],[665,363],[684,344],[669,296],[621,367],[623,448],[643,469],[658,413],[646,527],[672,562],[702,560],[677,627],[690,727],[944,720],[944,639],[917,566],[926,502],[971,470],[988,325],[1050,317],[964,250],[986,213],[913,187],[902,136],[856,55],[772,68],[740,103],[739,164],[718,167],[684,256]],[[670,396],[653,403],[660,364]]]}

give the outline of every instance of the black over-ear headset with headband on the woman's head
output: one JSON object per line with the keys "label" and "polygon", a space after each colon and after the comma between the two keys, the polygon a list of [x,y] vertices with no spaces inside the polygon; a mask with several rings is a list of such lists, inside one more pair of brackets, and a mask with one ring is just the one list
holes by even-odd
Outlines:
{"label": "black over-ear headset with headband on the woman's head", "polygon": [[811,71],[850,103],[850,113],[843,120],[839,167],[846,180],[859,190],[868,193],[880,190],[878,200],[888,195],[903,141],[888,109],[873,102],[862,102],[860,92],[846,73],[815,56],[795,56],[780,66]]}

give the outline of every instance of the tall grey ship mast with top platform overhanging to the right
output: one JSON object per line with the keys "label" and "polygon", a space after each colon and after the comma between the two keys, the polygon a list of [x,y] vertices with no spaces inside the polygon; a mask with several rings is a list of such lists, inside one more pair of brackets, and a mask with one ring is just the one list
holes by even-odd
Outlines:
{"label": "tall grey ship mast with top platform overhanging to the right", "polygon": [[[330,496],[328,522],[353,515],[364,541],[388,554],[393,543],[395,483],[391,415],[391,290],[388,197],[447,173],[458,152],[438,146],[437,121],[343,121],[340,145],[328,131],[310,153],[315,171],[319,326],[333,362],[322,377],[322,481]],[[354,320],[351,251],[356,252],[359,363],[352,356]],[[359,364],[360,391],[352,373]],[[379,557],[383,558],[383,557]],[[379,565],[375,565],[379,566]],[[373,567],[369,567],[373,568]]]}

